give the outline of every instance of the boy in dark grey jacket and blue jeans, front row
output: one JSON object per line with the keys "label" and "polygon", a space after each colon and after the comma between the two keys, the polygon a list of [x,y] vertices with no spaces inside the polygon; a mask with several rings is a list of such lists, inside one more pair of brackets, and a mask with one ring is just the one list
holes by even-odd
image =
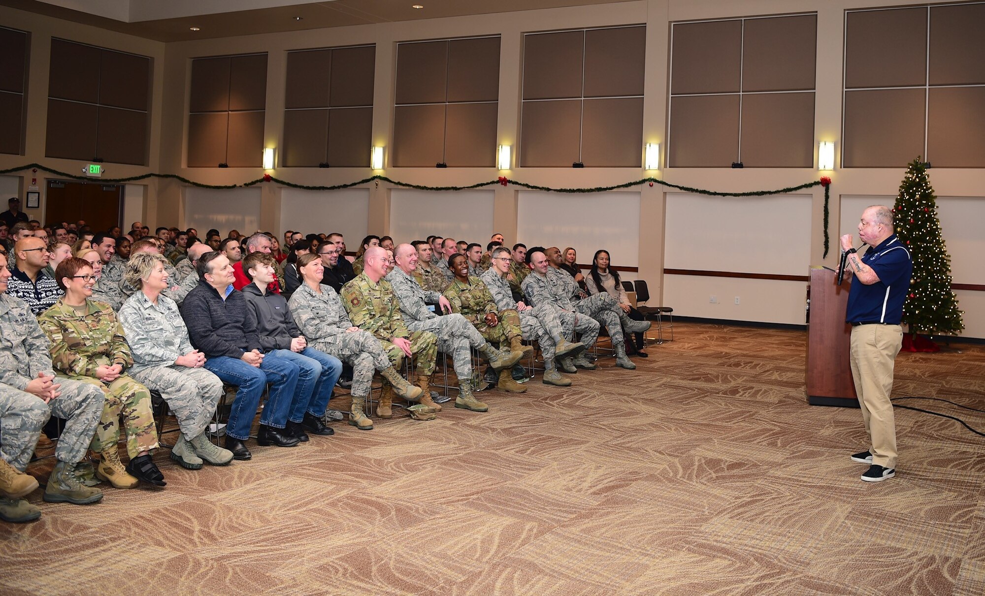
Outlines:
{"label": "boy in dark grey jacket and blue jeans, front row", "polygon": [[246,298],[247,312],[256,327],[264,358],[285,359],[299,371],[297,388],[288,417],[288,435],[307,441],[308,433],[334,435],[325,426],[322,416],[332,398],[332,388],[342,373],[342,361],[307,346],[307,340],[295,324],[288,301],[281,294],[269,291],[276,278],[274,258],[265,253],[250,253],[242,260],[243,275],[250,283],[241,290]]}

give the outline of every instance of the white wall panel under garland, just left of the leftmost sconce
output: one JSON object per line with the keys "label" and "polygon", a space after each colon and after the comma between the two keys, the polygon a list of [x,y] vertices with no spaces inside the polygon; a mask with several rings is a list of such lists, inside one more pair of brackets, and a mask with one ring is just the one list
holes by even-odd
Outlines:
{"label": "white wall panel under garland, just left of the leftmost sconce", "polygon": [[230,230],[247,236],[259,229],[260,188],[208,189],[184,188],[185,220],[182,227],[193,227],[205,237],[216,228],[226,237]]}

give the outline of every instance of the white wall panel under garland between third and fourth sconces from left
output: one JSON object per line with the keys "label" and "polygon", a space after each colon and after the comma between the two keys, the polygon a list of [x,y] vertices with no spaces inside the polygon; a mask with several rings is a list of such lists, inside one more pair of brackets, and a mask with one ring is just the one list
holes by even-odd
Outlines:
{"label": "white wall panel under garland between third and fourth sconces from left", "polygon": [[[637,267],[639,193],[563,194],[521,191],[517,206],[517,242],[531,246],[572,247],[578,263],[589,265],[595,251],[609,251],[612,265]],[[509,239],[506,240],[509,242]],[[636,278],[621,271],[626,280]]]}

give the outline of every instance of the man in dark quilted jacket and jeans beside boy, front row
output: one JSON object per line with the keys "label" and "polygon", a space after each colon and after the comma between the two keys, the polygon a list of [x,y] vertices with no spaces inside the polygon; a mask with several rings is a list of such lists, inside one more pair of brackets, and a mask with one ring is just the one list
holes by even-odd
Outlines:
{"label": "man in dark quilted jacket and jeans beside boy, front row", "polygon": [[226,427],[226,448],[236,459],[252,456],[244,442],[268,383],[272,384],[270,396],[256,441],[261,446],[295,447],[298,440],[284,428],[297,384],[296,365],[284,359],[265,359],[260,352],[256,325],[247,314],[246,299],[232,289],[232,265],[225,255],[206,253],[196,268],[200,281],[185,296],[181,316],[191,344],[207,358],[205,368],[238,387]]}

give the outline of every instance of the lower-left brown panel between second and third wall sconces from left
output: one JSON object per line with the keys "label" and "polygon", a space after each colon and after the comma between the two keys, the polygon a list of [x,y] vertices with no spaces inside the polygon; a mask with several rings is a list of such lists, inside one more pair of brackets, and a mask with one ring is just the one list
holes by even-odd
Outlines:
{"label": "lower-left brown panel between second and third wall sconces from left", "polygon": [[393,166],[434,167],[444,160],[444,104],[398,105],[393,113]]}

